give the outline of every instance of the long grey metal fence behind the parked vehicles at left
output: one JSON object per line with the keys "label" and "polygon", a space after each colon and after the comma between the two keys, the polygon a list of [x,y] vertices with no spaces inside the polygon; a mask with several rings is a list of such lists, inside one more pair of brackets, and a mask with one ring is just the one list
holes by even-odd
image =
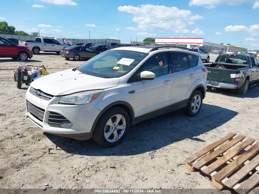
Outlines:
{"label": "long grey metal fence behind the parked vehicles at left", "polygon": [[[21,36],[21,35],[12,35],[12,34],[0,34],[3,38],[16,38],[18,40],[35,40],[36,36]],[[54,38],[54,37],[52,37]],[[64,38],[65,40],[71,40],[73,44],[77,43],[93,43],[93,44],[107,44],[109,42],[112,43],[120,43],[120,40],[114,39],[75,39],[75,38]]]}

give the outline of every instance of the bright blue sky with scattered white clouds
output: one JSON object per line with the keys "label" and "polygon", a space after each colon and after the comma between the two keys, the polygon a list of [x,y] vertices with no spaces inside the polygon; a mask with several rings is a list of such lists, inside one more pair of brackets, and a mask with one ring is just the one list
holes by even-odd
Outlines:
{"label": "bright blue sky with scattered white clouds", "polygon": [[[4,1],[0,21],[16,30],[52,37],[204,37],[205,41],[259,49],[259,1]],[[12,9],[10,9],[10,7]],[[242,43],[240,43],[242,42]]]}

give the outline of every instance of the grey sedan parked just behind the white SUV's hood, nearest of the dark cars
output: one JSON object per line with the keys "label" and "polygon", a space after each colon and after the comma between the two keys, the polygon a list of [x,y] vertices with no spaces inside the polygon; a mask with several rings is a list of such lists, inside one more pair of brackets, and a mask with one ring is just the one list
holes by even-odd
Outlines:
{"label": "grey sedan parked just behind the white SUV's hood, nearest of the dark cars", "polygon": [[69,46],[67,48],[62,48],[62,51],[60,52],[60,56],[67,60],[70,58],[74,59],[74,61],[78,61],[79,59],[91,59],[98,54],[100,53],[84,46]]}

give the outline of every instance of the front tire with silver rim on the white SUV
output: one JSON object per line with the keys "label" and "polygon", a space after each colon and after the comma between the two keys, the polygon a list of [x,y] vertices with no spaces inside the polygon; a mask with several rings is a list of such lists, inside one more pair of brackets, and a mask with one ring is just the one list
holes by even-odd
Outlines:
{"label": "front tire with silver rim on the white SUV", "polygon": [[129,125],[129,115],[123,108],[110,108],[98,120],[93,140],[104,147],[116,146],[125,138]]}

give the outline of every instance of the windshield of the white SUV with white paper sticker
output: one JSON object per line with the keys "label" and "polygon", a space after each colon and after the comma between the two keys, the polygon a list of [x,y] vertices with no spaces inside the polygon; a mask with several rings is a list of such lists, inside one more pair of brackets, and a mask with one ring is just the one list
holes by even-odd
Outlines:
{"label": "windshield of the white SUV with white paper sticker", "polygon": [[148,54],[137,51],[108,50],[78,67],[78,71],[100,78],[119,78],[128,74]]}

